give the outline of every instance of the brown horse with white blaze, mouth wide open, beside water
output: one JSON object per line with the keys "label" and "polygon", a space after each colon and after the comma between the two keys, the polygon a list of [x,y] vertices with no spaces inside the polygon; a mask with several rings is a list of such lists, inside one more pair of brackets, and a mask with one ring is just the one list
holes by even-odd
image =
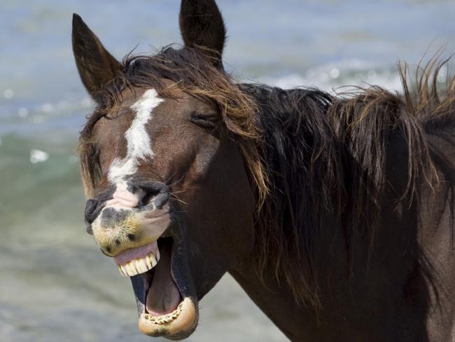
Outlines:
{"label": "brown horse with white blaze, mouth wide open, beside water", "polygon": [[[76,14],[97,104],[80,132],[85,224],[132,282],[139,329],[179,340],[230,273],[291,341],[454,341],[455,79],[403,90],[236,83],[214,0],[183,46],[116,60]],[[239,336],[240,338],[240,336]]]}

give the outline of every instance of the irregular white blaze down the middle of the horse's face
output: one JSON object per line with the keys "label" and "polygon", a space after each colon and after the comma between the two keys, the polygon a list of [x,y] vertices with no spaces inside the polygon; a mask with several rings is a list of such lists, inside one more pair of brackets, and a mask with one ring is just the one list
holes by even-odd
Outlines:
{"label": "irregular white blaze down the middle of the horse's face", "polygon": [[[120,193],[127,191],[125,177],[134,175],[137,172],[137,165],[140,159],[153,158],[154,153],[150,137],[147,134],[146,124],[153,118],[153,109],[164,100],[158,97],[155,89],[146,90],[141,98],[132,104],[131,109],[136,116],[128,130],[125,132],[127,140],[127,155],[125,158],[116,158],[109,168],[109,182],[116,184]],[[114,194],[114,197],[115,194]],[[122,196],[123,197],[123,196]]]}

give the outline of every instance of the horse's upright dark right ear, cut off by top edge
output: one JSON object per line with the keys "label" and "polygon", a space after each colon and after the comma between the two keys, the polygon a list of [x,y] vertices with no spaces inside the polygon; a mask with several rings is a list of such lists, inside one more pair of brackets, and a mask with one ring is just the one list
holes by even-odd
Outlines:
{"label": "horse's upright dark right ear, cut off by top edge", "polygon": [[221,12],[214,0],[182,0],[180,31],[188,47],[214,51],[216,64],[221,65],[221,55],[226,40],[226,29]]}

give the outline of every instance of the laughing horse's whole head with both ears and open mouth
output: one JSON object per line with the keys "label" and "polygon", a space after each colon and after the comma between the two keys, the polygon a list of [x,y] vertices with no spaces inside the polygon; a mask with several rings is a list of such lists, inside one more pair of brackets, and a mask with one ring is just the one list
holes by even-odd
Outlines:
{"label": "laughing horse's whole head with both ears and open mouth", "polygon": [[183,0],[180,27],[182,48],[123,62],[78,15],[72,35],[97,104],[80,136],[87,232],[131,278],[139,329],[172,339],[195,330],[198,301],[248,257],[256,202],[241,153],[253,105],[223,71],[221,13]]}

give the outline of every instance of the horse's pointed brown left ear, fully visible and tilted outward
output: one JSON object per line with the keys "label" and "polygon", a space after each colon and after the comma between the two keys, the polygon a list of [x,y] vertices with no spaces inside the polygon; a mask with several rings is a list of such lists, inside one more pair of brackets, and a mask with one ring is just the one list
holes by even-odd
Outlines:
{"label": "horse's pointed brown left ear, fully visible and tilted outward", "polygon": [[72,41],[80,79],[96,101],[99,91],[116,76],[122,65],[76,13],[73,14]]}

